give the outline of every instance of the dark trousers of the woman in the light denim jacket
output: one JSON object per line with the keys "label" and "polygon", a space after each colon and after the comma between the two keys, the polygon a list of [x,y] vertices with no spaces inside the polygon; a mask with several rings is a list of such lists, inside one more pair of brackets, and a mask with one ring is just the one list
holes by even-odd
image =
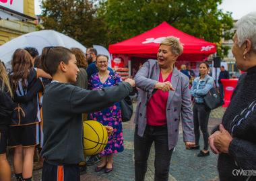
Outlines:
{"label": "dark trousers of the woman in the light denim jacket", "polygon": [[208,145],[208,121],[211,110],[205,106],[204,103],[194,103],[193,105],[193,117],[194,117],[194,133],[195,133],[195,145],[199,145],[200,130],[203,133],[204,147],[207,150]]}

